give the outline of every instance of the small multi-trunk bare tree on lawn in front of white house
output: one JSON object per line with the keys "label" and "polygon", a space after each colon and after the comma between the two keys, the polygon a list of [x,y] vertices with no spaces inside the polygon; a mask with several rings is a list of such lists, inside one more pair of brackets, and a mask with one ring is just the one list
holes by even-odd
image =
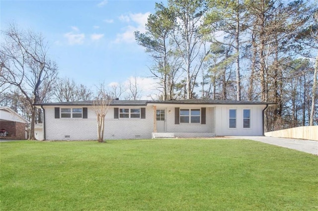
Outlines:
{"label": "small multi-trunk bare tree on lawn in front of white house", "polygon": [[97,120],[97,141],[104,142],[105,116],[112,99],[105,90],[105,83],[99,84],[97,88],[97,95],[93,100],[93,110]]}

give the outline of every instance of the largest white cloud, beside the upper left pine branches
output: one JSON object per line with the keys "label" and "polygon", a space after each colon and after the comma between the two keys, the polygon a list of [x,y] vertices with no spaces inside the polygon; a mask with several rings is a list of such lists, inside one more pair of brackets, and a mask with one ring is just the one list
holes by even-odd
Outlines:
{"label": "largest white cloud, beside the upper left pine branches", "polygon": [[119,19],[131,24],[124,28],[124,32],[117,34],[115,43],[134,43],[135,31],[146,32],[145,24],[147,23],[150,12],[129,14],[129,16],[120,16]]}

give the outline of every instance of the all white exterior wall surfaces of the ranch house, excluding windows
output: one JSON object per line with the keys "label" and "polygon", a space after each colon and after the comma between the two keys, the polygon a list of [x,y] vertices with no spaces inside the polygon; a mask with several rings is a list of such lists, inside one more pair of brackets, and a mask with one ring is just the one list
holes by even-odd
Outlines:
{"label": "all white exterior wall surfaces of the ranch house, excluding windows", "polygon": [[[91,106],[59,106],[60,108],[87,107],[87,119],[57,118],[54,107],[45,106],[46,140],[96,140],[96,115]],[[114,119],[114,107],[146,107],[146,118]],[[206,107],[206,124],[175,124],[175,107]],[[262,109],[265,105],[157,105],[157,109],[166,108],[166,132],[170,133],[215,133],[216,136],[259,136],[263,133]],[[237,109],[237,128],[229,128],[229,109]],[[250,126],[243,128],[243,109],[251,110]],[[170,113],[169,113],[170,111]],[[148,106],[110,106],[105,118],[104,139],[149,139],[154,127],[154,110]],[[70,138],[66,138],[69,136]]]}

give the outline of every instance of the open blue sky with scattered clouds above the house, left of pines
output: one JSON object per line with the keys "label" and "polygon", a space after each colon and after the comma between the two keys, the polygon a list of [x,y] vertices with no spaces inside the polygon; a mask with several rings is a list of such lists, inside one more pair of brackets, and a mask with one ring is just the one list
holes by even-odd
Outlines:
{"label": "open blue sky with scattered clouds above the house, left of pines", "polygon": [[103,81],[124,84],[137,76],[143,95],[147,95],[154,85],[147,78],[151,58],[136,44],[133,32],[144,32],[155,2],[1,0],[0,28],[14,21],[20,28],[42,33],[60,77],[93,88]]}

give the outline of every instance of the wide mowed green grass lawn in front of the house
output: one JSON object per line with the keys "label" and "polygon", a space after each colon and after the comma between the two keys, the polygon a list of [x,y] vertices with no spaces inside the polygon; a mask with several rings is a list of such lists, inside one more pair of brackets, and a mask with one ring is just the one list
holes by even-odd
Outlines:
{"label": "wide mowed green grass lawn in front of the house", "polygon": [[0,210],[318,210],[318,157],[248,140],[0,143]]}

